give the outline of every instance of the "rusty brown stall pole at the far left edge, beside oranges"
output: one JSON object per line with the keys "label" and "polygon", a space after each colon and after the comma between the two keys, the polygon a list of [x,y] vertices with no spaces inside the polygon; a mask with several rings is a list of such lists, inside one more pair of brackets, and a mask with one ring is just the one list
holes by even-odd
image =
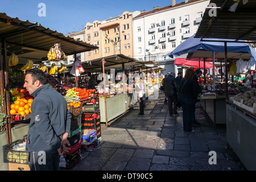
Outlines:
{"label": "rusty brown stall pole at the far left edge, beside oranges", "polygon": [[[3,51],[2,51],[3,50]],[[0,76],[1,76],[1,104],[3,113],[10,115],[10,97],[9,97],[9,76],[7,67],[7,51],[6,41],[2,39],[0,41]],[[11,143],[11,121],[10,118],[6,118],[6,140],[7,143]]]}

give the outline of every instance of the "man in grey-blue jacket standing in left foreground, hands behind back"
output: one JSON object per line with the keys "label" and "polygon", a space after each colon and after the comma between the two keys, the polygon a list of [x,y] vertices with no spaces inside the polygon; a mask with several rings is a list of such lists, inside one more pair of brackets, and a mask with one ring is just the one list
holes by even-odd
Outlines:
{"label": "man in grey-blue jacket standing in left foreground, hands behind back", "polygon": [[40,69],[26,73],[24,88],[35,97],[31,104],[31,120],[28,126],[26,152],[30,153],[31,171],[59,170],[60,155],[65,147],[71,127],[72,115],[67,102],[47,84]]}

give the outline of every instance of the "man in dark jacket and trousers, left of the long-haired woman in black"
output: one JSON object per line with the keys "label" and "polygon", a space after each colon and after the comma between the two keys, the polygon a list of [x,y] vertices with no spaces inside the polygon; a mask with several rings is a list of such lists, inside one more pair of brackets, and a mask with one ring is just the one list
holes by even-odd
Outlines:
{"label": "man in dark jacket and trousers, left of the long-haired woman in black", "polygon": [[[171,72],[168,77],[164,79],[164,89],[167,97],[168,97],[168,108],[169,114],[179,114],[177,113],[177,106],[175,105],[175,101],[177,99],[177,84],[175,80],[175,73]],[[174,109],[172,110],[172,103],[174,103]]]}

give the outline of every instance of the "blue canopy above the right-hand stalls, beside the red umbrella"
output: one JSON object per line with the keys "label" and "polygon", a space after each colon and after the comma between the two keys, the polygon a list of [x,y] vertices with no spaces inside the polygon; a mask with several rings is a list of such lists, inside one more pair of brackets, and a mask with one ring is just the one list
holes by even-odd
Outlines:
{"label": "blue canopy above the right-hand stalls, beside the red umbrella", "polygon": [[[239,59],[239,58],[242,58],[242,56],[244,55],[245,56],[244,59],[250,59],[250,57],[253,57],[253,59],[256,60],[256,51],[254,51],[254,49],[251,48],[247,43],[232,42],[234,40],[230,40],[230,39],[205,39],[205,40],[210,40],[211,42],[200,41],[200,38],[195,38],[194,36],[195,35],[185,40],[177,48],[175,48],[174,51],[172,51],[171,53],[168,53],[167,55],[170,56],[171,58],[174,58],[174,56],[176,57],[176,56],[183,55],[185,53],[192,53],[195,51],[211,51],[209,52],[210,54],[212,54],[212,51],[214,51],[214,52],[221,52],[222,54],[221,57],[224,58],[224,52],[225,52],[224,42],[227,42],[227,52],[237,53],[237,56],[232,55],[232,56],[228,56],[228,58]],[[204,57],[202,52],[200,52],[199,55],[200,56],[195,56],[195,55],[194,56]]]}

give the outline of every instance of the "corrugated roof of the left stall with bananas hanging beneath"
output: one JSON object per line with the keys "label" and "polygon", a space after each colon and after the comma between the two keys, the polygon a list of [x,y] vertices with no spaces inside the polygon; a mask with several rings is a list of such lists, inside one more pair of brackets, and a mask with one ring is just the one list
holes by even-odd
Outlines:
{"label": "corrugated roof of the left stall with bananas hanging beneath", "polygon": [[41,26],[39,23],[22,21],[0,13],[0,39],[6,40],[7,55],[14,52],[19,57],[47,60],[49,49],[60,43],[65,55],[97,49],[97,46],[66,37],[63,34]]}

